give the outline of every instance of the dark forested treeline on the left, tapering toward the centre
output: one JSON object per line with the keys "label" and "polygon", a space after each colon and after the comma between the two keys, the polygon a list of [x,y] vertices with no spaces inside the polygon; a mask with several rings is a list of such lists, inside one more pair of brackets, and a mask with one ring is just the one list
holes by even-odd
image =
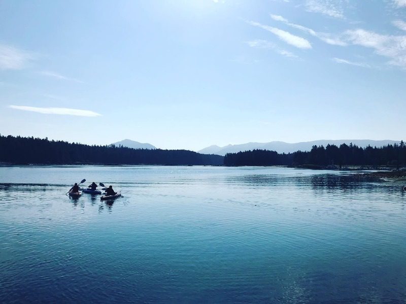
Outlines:
{"label": "dark forested treeline on the left, tapering toward the centre", "polygon": [[0,161],[17,164],[220,165],[223,164],[223,156],[188,150],[132,149],[114,145],[89,146],[33,137],[0,135]]}

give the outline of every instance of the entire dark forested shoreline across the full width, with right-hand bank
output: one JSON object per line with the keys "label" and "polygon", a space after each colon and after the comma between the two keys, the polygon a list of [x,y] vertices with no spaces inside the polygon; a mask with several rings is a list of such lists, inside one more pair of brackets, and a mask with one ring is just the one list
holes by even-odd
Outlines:
{"label": "entire dark forested shoreline across the full width, with right-hand bank", "polygon": [[312,170],[379,172],[355,177],[406,177],[406,146],[357,147],[342,144],[313,146],[311,151],[278,153],[250,150],[225,156],[189,150],[133,149],[123,146],[84,145],[47,138],[13,137],[0,134],[0,165],[209,165],[288,166]]}

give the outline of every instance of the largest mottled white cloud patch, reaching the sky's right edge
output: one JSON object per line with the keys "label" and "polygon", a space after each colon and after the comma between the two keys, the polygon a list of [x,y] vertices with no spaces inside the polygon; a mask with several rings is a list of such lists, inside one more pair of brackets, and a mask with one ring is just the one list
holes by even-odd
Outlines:
{"label": "largest mottled white cloud patch, reaching the sky's right edge", "polygon": [[389,64],[406,69],[406,36],[381,35],[364,29],[347,30],[344,35],[352,44],[372,48],[390,58]]}

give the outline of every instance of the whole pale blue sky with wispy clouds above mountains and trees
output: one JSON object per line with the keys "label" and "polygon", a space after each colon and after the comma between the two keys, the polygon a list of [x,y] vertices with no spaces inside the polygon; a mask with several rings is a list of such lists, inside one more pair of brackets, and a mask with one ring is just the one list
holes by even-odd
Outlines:
{"label": "whole pale blue sky with wispy clouds above mountains and trees", "polygon": [[405,140],[406,0],[0,1],[0,133]]}

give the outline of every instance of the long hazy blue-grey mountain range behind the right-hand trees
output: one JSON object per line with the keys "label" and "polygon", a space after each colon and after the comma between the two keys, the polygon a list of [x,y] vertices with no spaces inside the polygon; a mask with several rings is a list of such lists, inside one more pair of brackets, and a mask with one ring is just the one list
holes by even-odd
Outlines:
{"label": "long hazy blue-grey mountain range behind the right-hand trees", "polygon": [[278,153],[292,153],[298,150],[301,151],[310,151],[314,145],[324,147],[327,144],[334,144],[336,146],[340,146],[341,144],[349,145],[352,143],[353,145],[357,145],[358,147],[367,147],[370,145],[371,147],[382,147],[388,144],[399,144],[400,141],[391,141],[391,140],[383,140],[383,141],[373,141],[373,140],[319,140],[319,141],[312,141],[312,142],[301,142],[301,143],[285,143],[285,142],[270,142],[270,143],[247,143],[241,145],[227,145],[224,147],[219,146],[210,146],[204,149],[201,149],[197,152],[203,154],[218,154],[218,155],[225,155],[226,153],[235,153],[240,151],[248,151],[254,149],[263,149],[263,150],[272,150],[277,151]]}

